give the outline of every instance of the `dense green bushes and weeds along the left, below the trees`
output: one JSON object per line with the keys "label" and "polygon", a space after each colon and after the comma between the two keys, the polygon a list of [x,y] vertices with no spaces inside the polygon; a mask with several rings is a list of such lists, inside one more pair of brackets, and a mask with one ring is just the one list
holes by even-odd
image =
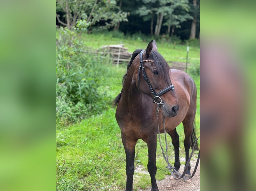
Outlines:
{"label": "dense green bushes and weeds along the left, below the trees", "polygon": [[76,32],[61,29],[60,33],[56,46],[56,120],[67,125],[109,107],[110,98],[98,88],[110,61],[87,53]]}

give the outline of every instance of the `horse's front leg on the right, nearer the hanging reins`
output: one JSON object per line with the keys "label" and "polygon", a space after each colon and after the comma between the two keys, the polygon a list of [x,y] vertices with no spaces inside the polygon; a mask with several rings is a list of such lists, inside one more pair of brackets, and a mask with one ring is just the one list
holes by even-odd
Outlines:
{"label": "horse's front leg on the right, nearer the hanging reins", "polygon": [[149,137],[147,139],[147,146],[148,146],[148,172],[151,178],[151,191],[158,191],[158,187],[156,184],[156,135],[153,137]]}

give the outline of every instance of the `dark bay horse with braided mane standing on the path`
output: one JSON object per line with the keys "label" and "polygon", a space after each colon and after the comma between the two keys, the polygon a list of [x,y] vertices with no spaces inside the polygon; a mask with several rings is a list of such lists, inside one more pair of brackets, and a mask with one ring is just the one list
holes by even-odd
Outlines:
{"label": "dark bay horse with braided mane standing on the path", "polygon": [[[175,90],[174,90],[175,87]],[[155,41],[146,50],[136,50],[127,66],[123,78],[123,89],[115,99],[116,120],[121,129],[126,154],[126,191],[132,190],[134,174],[135,145],[142,139],[148,146],[148,172],[151,177],[151,191],[158,191],[156,184],[157,116],[159,110],[160,133],[166,132],[172,138],[176,170],[179,162],[179,136],[176,127],[182,122],[186,162],[189,148],[196,140],[194,119],[197,108],[197,89],[193,79],[180,70],[170,70],[164,58],[157,52]],[[158,104],[156,104],[158,103]],[[190,174],[190,165],[186,174]]]}

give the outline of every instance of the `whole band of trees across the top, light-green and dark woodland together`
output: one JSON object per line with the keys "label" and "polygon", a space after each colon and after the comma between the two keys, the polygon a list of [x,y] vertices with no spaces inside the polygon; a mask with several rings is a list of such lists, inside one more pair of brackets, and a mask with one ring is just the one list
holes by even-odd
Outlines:
{"label": "whole band of trees across the top, light-green and dark woodland together", "polygon": [[155,37],[160,33],[176,34],[188,39],[194,17],[199,32],[199,5],[199,0],[198,6],[193,6],[191,0],[57,0],[56,18],[58,25],[79,32],[120,28],[124,33],[142,31]]}

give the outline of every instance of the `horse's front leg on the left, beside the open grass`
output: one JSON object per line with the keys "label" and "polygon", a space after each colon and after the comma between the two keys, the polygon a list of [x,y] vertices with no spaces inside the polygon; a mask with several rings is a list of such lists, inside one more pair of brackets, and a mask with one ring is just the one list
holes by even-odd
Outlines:
{"label": "horse's front leg on the left, beside the open grass", "polygon": [[125,137],[122,133],[122,142],[126,154],[126,188],[125,191],[132,191],[132,182],[134,174],[134,156],[135,145],[137,140],[131,140]]}

